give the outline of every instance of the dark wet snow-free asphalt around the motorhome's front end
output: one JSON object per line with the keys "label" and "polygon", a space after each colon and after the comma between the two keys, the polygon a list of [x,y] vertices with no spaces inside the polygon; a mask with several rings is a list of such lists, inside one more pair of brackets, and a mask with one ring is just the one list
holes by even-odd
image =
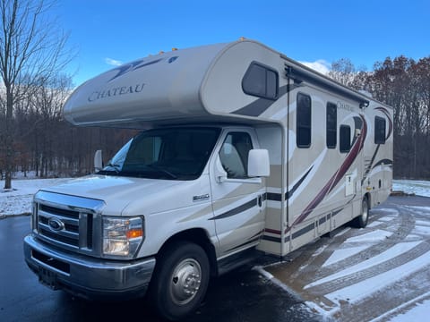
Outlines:
{"label": "dark wet snow-free asphalt around the motorhome's front end", "polygon": [[[28,233],[30,216],[0,220],[0,321],[160,320],[144,299],[83,301],[39,284],[23,258],[22,239]],[[321,318],[300,299],[246,266],[213,279],[200,309],[185,320],[288,322],[319,321]]]}

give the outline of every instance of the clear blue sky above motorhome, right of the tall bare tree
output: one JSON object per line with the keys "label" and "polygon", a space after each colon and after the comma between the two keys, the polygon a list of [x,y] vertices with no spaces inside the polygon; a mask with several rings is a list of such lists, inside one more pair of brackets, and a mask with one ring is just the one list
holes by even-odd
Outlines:
{"label": "clear blue sky above motorhome, right of the tall bare tree", "polygon": [[300,62],[349,58],[372,70],[398,55],[430,55],[429,0],[59,0],[59,27],[78,54],[73,82],[172,47],[261,41]]}

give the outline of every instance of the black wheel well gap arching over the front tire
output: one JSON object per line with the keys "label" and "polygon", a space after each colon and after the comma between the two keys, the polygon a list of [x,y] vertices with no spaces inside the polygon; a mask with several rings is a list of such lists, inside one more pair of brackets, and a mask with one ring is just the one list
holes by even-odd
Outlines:
{"label": "black wheel well gap arching over the front tire", "polygon": [[166,250],[174,248],[177,242],[193,242],[202,247],[209,259],[211,275],[218,275],[218,264],[215,247],[212,245],[208,234],[202,228],[188,229],[186,231],[174,234],[166,242],[164,242],[163,246],[161,246],[157,258],[161,256],[161,254],[163,254]]}

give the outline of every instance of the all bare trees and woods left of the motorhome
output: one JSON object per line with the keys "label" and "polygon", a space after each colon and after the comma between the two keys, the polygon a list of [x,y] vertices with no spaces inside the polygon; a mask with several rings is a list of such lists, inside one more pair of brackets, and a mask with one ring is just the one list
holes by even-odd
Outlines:
{"label": "all bare trees and woods left of the motorhome", "polygon": [[0,0],[0,179],[92,171],[95,149],[112,154],[130,131],[73,128],[61,108],[71,93],[64,75],[74,53],[51,9],[55,0]]}

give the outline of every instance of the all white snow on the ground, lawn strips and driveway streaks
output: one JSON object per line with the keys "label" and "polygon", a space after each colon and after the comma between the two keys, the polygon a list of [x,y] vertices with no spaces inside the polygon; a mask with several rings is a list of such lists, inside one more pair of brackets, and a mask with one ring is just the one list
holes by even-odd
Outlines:
{"label": "all white snow on the ground, lawn strips and driveway streaks", "polygon": [[[67,180],[70,179],[13,180],[13,190],[4,191],[0,188],[0,219],[4,216],[30,214],[34,193]],[[430,182],[396,180],[393,183],[394,191],[430,197]],[[4,182],[0,181],[0,187],[3,186]],[[399,214],[397,210],[392,208],[379,208],[379,212],[382,212],[383,216],[378,216],[368,225],[369,232],[360,233],[358,231],[355,236],[345,238],[341,247],[337,247],[336,250],[332,251],[331,256],[324,259],[320,269],[331,273],[307,281],[303,284],[302,289],[305,292],[315,292],[326,287],[327,292],[323,292],[323,297],[327,301],[335,303],[338,309],[331,308],[331,311],[330,309],[327,311],[327,305],[321,302],[306,301],[311,308],[319,310],[323,316],[329,319],[337,318],[336,314],[341,312],[340,308],[346,305],[345,303],[348,303],[349,306],[353,306],[355,303],[359,305],[362,302],[370,301],[369,296],[370,299],[375,296],[377,300],[378,292],[383,290],[392,296],[395,292],[391,291],[391,287],[394,290],[397,285],[403,287],[402,283],[409,275],[422,275],[423,271],[426,272],[426,267],[430,267],[430,251],[426,249],[427,241],[430,238],[430,205],[429,207],[402,206],[402,208],[406,209],[406,214],[414,214],[410,216],[410,218],[413,217],[413,224],[402,242],[392,243],[389,248],[382,249],[379,253],[374,252],[373,256],[356,260],[353,264],[344,267],[344,263],[352,260],[349,258],[357,259],[367,249],[374,250],[378,244],[383,244],[384,241],[390,242],[391,239],[397,238],[396,236],[402,232],[403,225],[408,225],[408,221],[404,219],[404,214]],[[426,217],[429,218],[429,221],[426,221]],[[337,238],[349,233],[349,231],[349,229],[345,229],[338,233]],[[316,250],[311,257],[316,259],[322,257],[326,249],[330,249],[330,247],[323,246],[323,248]],[[415,257],[400,260],[402,256],[404,258],[404,254],[413,250],[416,251]],[[396,260],[399,265],[393,265]],[[300,267],[300,269],[306,268],[306,265]],[[274,282],[283,285],[285,290],[290,290],[288,283],[283,284],[274,278],[268,269],[269,267],[264,267],[260,271],[262,274],[271,276]],[[372,273],[375,269],[375,273]],[[357,280],[357,275],[362,275],[363,278]],[[336,284],[338,285],[333,286]],[[415,284],[415,288],[418,286],[419,284]],[[399,304],[376,320],[395,322],[426,320],[428,312],[430,312],[430,292],[428,290],[426,292],[410,301]]]}

